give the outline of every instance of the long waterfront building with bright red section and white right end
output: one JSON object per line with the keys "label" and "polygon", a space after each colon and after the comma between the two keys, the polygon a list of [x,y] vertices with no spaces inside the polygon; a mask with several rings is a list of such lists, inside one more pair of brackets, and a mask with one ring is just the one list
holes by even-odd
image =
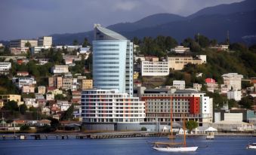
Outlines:
{"label": "long waterfront building with bright red section and white right end", "polygon": [[154,93],[142,94],[141,99],[146,105],[146,122],[168,123],[181,121],[186,117],[188,120],[195,120],[202,123],[211,123],[212,99],[205,96],[205,93],[198,93],[194,90],[176,90],[174,93]]}

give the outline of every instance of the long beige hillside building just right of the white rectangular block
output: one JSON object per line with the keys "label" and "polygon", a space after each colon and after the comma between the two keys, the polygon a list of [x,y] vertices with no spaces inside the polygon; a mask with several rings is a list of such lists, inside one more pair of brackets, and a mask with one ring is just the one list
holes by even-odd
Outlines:
{"label": "long beige hillside building just right of the white rectangular block", "polygon": [[169,62],[169,68],[173,70],[182,70],[184,68],[184,65],[187,65],[189,63],[200,65],[202,63],[206,62],[206,56],[200,55],[198,56],[202,59],[193,59],[192,56],[170,56],[168,57]]}

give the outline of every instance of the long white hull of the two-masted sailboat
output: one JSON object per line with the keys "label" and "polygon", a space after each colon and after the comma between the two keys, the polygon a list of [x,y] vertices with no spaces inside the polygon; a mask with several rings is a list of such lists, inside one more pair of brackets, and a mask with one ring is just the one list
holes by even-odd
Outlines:
{"label": "long white hull of the two-masted sailboat", "polygon": [[198,147],[152,147],[154,150],[165,151],[165,152],[193,152]]}

